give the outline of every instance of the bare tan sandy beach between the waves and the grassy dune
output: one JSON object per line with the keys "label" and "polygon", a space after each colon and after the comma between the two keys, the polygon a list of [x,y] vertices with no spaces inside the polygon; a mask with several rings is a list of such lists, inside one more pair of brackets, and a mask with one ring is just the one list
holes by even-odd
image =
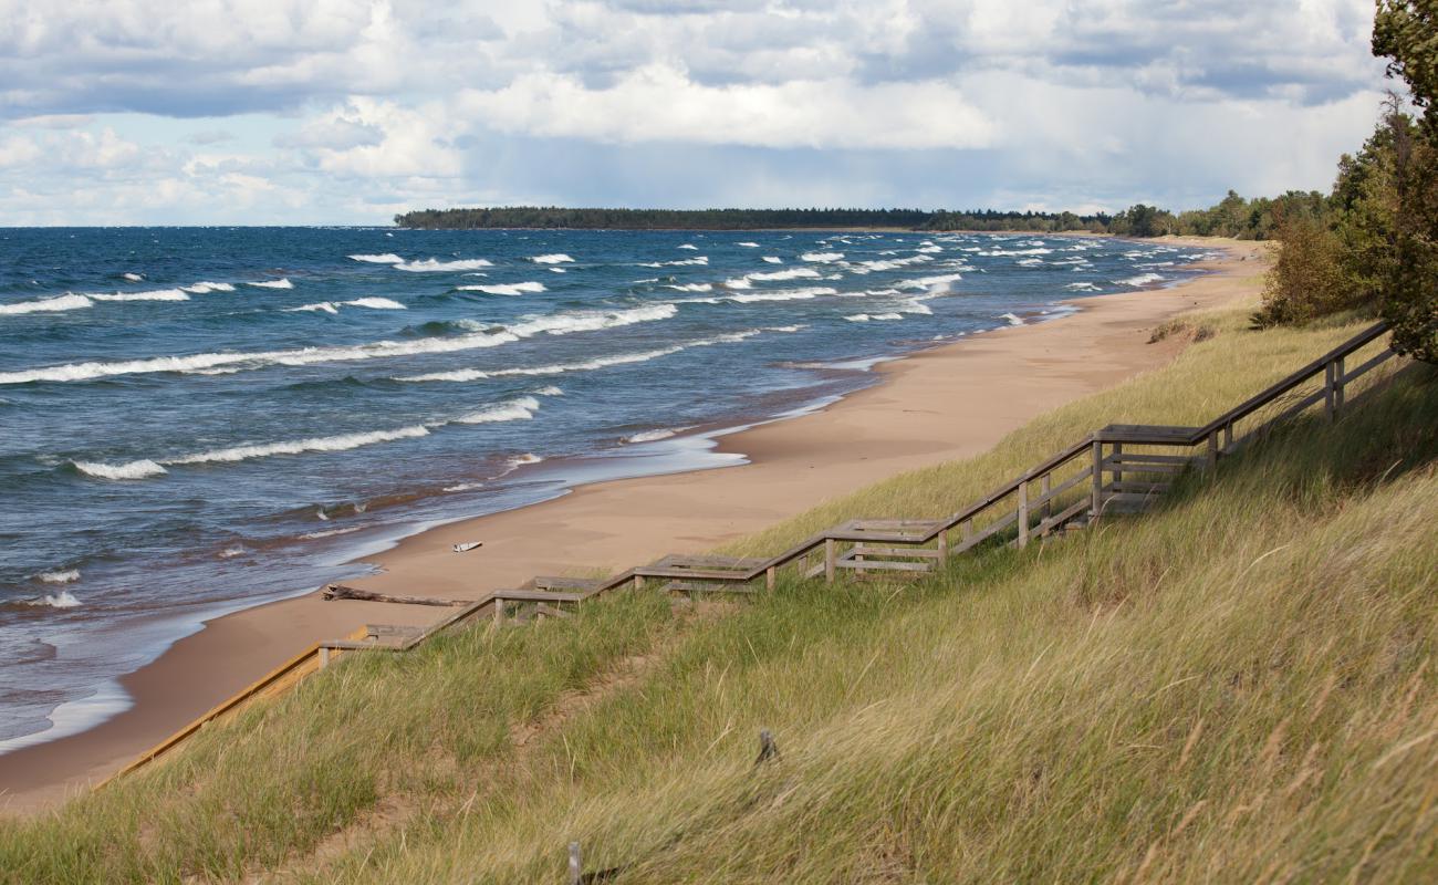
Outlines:
{"label": "bare tan sandy beach between the waves and the grassy dune", "polygon": [[[982,452],[1032,417],[1160,366],[1181,348],[1148,344],[1140,332],[1255,291],[1250,278],[1261,263],[1240,262],[1260,258],[1261,245],[1166,239],[1228,255],[1201,265],[1211,273],[1168,289],[1060,301],[1077,312],[880,363],[874,384],[837,403],[713,435],[710,452],[732,466],[581,481],[539,504],[411,534],[362,557],[380,571],[351,583],[473,599],[535,574],[621,570],[666,553],[699,553],[893,473]],[[470,540],[485,545],[452,553]],[[423,606],[326,603],[318,591],[211,619],[121,678],[132,698],[127,711],[0,755],[0,812],[46,807],[104,779],[315,640],[362,623],[434,619]]]}

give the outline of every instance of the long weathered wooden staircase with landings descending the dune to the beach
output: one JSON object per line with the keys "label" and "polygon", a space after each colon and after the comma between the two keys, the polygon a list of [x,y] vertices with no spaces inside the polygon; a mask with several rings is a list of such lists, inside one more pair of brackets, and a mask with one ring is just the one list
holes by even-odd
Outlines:
{"label": "long weathered wooden staircase with landings descending the dune to the beach", "polygon": [[[479,616],[505,623],[510,606],[529,606],[528,616],[562,617],[562,604],[581,603],[621,587],[641,589],[647,580],[667,580],[669,587],[692,593],[733,591],[759,578],[772,590],[782,568],[795,568],[802,578],[823,576],[827,581],[835,580],[840,570],[860,576],[870,570],[929,571],[935,563],[989,541],[1024,547],[1035,537],[1043,538],[1080,519],[1091,524],[1106,514],[1142,508],[1166,485],[1155,478],[1172,476],[1192,465],[1215,469],[1219,458],[1244,440],[1319,401],[1333,419],[1345,404],[1349,384],[1393,357],[1392,350],[1380,345],[1355,368],[1346,368],[1349,360],[1386,331],[1383,322],[1365,330],[1201,427],[1109,425],[1094,430],[949,517],[851,519],[764,560],[673,555],[608,578],[535,578],[536,589],[495,590],[429,627],[371,625],[347,639],[319,642],[148,750],[109,780],[174,750],[207,722],[253,699],[286,691],[339,655],[406,652]],[[1303,390],[1314,381],[1320,381],[1316,390]],[[1274,409],[1277,414],[1270,414]],[[1195,448],[1204,450],[1195,455]],[[1173,449],[1182,453],[1175,455]]]}

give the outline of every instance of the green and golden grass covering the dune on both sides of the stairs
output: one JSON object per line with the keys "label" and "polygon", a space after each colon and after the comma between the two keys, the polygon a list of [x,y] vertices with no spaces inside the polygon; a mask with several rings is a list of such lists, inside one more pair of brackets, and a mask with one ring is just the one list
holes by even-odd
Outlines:
{"label": "green and golden grass covering the dune on both sides of the stairs", "polygon": [[[995,450],[732,545],[938,515],[1110,422],[1201,423],[1359,327],[1208,340]],[[174,760],[0,823],[0,881],[1438,878],[1438,377],[1165,507],[910,584],[342,659]],[[781,757],[755,766],[759,728]]]}

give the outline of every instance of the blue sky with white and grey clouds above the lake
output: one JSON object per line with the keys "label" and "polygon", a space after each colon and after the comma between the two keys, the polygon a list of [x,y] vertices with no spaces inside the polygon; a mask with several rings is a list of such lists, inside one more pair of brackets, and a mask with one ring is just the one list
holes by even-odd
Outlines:
{"label": "blue sky with white and grey clouds above the lake", "polygon": [[0,0],[0,226],[1326,190],[1372,0]]}

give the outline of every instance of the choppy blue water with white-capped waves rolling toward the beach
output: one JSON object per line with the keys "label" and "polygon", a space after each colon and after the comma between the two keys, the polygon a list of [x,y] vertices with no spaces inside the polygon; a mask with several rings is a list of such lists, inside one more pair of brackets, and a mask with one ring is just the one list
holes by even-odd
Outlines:
{"label": "choppy blue water with white-capped waves rolling toward the beach", "polygon": [[342,574],[364,538],[605,459],[669,469],[666,436],[1199,258],[986,235],[0,230],[0,750],[58,704],[70,724],[86,698],[114,709],[115,676],[201,617]]}

